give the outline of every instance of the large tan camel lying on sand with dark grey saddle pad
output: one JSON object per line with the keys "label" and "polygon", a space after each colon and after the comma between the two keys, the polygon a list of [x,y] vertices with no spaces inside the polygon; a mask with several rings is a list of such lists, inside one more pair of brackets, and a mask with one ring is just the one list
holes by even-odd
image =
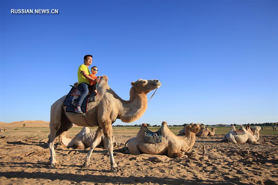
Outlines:
{"label": "large tan camel lying on sand with dark grey saddle pad", "polygon": [[141,153],[167,155],[170,158],[187,157],[184,152],[190,150],[195,143],[195,133],[205,129],[200,124],[189,124],[186,126],[185,137],[181,138],[176,136],[167,127],[165,121],[162,122],[159,128],[162,134],[162,142],[157,144],[144,143],[143,138],[145,135],[145,129],[148,129],[146,124],[142,124],[136,137],[129,139],[125,145],[128,145],[125,153],[139,155]]}

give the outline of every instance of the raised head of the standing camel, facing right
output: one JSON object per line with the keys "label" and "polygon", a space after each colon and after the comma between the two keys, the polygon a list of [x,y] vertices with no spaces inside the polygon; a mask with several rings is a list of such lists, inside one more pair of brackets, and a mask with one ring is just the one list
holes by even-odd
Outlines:
{"label": "raised head of the standing camel, facing right", "polygon": [[159,80],[143,80],[139,79],[136,82],[131,82],[131,85],[135,88],[138,93],[149,93],[151,90],[159,88],[161,82]]}

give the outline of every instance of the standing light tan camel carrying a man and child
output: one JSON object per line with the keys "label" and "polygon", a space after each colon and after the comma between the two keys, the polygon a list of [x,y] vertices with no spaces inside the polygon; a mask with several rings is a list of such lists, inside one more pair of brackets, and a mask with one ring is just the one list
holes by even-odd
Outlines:
{"label": "standing light tan camel carrying a man and child", "polygon": [[94,148],[101,140],[104,134],[107,150],[110,156],[111,170],[119,171],[114,156],[112,144],[112,124],[116,119],[120,119],[125,123],[133,122],[139,119],[147,109],[147,93],[161,86],[158,80],[142,80],[131,82],[130,99],[128,101],[121,99],[107,84],[107,76],[103,76],[98,85],[98,98],[95,102],[88,103],[87,113],[66,113],[63,102],[66,95],[58,99],[52,106],[50,111],[50,135],[48,145],[50,150],[50,166],[55,168],[59,164],[55,159],[54,140],[61,133],[69,130],[73,123],[82,127],[96,126],[95,137],[92,141],[91,148],[87,154],[84,167],[90,167],[91,154]]}

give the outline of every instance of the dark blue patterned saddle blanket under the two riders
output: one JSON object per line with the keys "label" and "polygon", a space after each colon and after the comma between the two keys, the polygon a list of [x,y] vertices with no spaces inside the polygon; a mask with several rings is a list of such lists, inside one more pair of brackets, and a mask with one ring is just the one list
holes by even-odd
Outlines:
{"label": "dark blue patterned saddle blanket under the two riders", "polygon": [[[87,104],[88,104],[88,98],[89,98],[89,95],[90,95],[90,90],[89,90],[89,94],[85,97],[84,101],[82,102],[82,105],[80,106],[81,107],[81,111],[83,113],[87,113]],[[68,93],[66,99],[64,100],[64,106],[66,106],[66,112],[74,112],[74,106],[72,105],[73,101],[75,99],[78,98],[78,96],[80,95],[80,91],[75,88],[75,87],[72,87],[70,92]]]}

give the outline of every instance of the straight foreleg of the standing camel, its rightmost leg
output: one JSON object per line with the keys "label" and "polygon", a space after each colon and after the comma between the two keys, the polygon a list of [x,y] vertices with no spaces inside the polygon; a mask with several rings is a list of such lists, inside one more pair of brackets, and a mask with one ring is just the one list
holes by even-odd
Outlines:
{"label": "straight foreleg of the standing camel, its rightmost leg", "polygon": [[107,150],[110,156],[110,165],[111,165],[111,171],[118,172],[120,171],[120,168],[117,166],[117,163],[114,160],[113,156],[113,140],[112,140],[112,124],[105,124],[103,125],[103,134],[105,137],[105,142],[107,146]]}

